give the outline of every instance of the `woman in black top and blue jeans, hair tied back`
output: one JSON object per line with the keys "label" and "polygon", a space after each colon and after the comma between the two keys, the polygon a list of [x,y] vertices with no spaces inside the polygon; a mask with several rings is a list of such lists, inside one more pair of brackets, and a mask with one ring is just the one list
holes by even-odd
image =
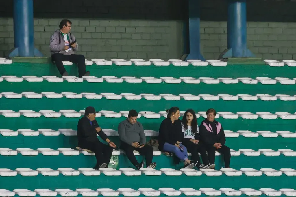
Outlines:
{"label": "woman in black top and blue jeans, hair tied back", "polygon": [[172,107],[167,110],[165,118],[159,128],[158,143],[161,151],[172,152],[181,160],[184,160],[183,168],[193,168],[197,161],[189,160],[187,149],[181,144],[183,133],[181,131],[180,110],[178,107]]}

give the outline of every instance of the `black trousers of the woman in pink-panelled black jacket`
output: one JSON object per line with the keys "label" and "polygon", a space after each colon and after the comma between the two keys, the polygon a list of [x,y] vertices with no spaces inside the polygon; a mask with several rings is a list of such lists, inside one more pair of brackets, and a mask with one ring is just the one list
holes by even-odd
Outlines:
{"label": "black trousers of the woman in pink-panelled black jacket", "polygon": [[215,162],[215,151],[223,154],[225,168],[229,168],[230,165],[230,148],[228,146],[222,145],[221,148],[216,149],[214,146],[206,146],[205,147],[208,153],[210,163]]}

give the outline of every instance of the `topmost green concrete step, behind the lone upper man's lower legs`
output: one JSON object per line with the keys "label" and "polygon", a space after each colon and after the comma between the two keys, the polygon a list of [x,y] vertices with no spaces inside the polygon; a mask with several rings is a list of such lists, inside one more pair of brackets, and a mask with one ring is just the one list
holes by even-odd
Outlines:
{"label": "topmost green concrete step, behind the lone upper man's lower legs", "polygon": [[[70,75],[78,76],[77,66],[65,66]],[[264,64],[231,64],[227,66],[86,66],[91,76],[191,76],[191,77],[288,77],[294,78],[295,68],[287,65],[271,67]],[[32,73],[32,71],[34,71]],[[13,76],[60,76],[54,64],[42,63],[13,63],[0,67],[0,75]]]}

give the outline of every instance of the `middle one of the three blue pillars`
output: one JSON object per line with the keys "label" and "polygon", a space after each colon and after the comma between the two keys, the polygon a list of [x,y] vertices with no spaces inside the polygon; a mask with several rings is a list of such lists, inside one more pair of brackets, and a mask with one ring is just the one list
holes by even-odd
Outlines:
{"label": "middle one of the three blue pillars", "polygon": [[[189,21],[187,26],[189,29],[189,54],[186,60],[199,59],[205,61],[200,53],[200,0],[189,0]],[[186,42],[187,39],[185,39]],[[185,45],[186,46],[186,45]]]}

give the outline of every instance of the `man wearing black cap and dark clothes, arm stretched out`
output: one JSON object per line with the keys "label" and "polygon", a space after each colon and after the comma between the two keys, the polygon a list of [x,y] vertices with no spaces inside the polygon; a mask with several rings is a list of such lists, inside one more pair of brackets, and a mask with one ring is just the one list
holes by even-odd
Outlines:
{"label": "man wearing black cap and dark clothes, arm stretched out", "polygon": [[[96,156],[96,166],[94,169],[108,167],[113,148],[116,145],[107,138],[107,135],[102,131],[98,125],[95,117],[96,110],[94,107],[87,107],[84,116],[80,118],[77,125],[78,150],[87,149],[93,151]],[[103,144],[97,138],[98,134],[108,145]]]}

